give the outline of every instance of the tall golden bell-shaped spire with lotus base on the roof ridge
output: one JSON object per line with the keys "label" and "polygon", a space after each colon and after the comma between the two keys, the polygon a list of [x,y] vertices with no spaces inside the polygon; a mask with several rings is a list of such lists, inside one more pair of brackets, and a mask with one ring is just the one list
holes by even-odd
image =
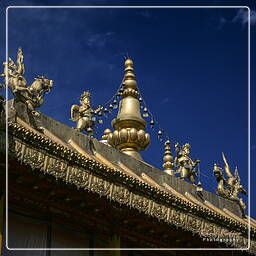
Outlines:
{"label": "tall golden bell-shaped spire with lotus base on the roof ridge", "polygon": [[141,117],[139,93],[135,79],[133,61],[125,61],[122,97],[117,117],[112,120],[114,132],[108,134],[108,143],[120,151],[137,159],[142,159],[143,151],[150,143],[150,136],[145,133],[146,121]]}

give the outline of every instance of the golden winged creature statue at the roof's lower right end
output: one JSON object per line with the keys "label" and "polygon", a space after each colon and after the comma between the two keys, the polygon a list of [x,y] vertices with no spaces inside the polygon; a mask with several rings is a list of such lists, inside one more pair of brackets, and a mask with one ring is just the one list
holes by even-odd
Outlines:
{"label": "golden winged creature statue at the roof's lower right end", "polygon": [[238,174],[237,167],[235,168],[234,175],[231,173],[227,159],[222,153],[222,158],[224,162],[224,170],[227,176],[225,179],[223,175],[223,169],[214,164],[213,173],[218,182],[217,193],[225,198],[239,202],[239,205],[243,210],[245,210],[246,205],[242,198],[239,198],[240,193],[246,195],[246,190],[240,184],[240,177]]}

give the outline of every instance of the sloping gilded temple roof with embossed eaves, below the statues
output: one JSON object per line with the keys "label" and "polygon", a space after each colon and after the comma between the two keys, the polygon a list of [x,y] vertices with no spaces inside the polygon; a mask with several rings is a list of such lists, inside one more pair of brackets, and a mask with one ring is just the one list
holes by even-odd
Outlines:
{"label": "sloping gilded temple roof with embossed eaves, below the statues", "polygon": [[[10,157],[29,165],[38,174],[54,176],[199,235],[211,229],[218,234],[237,231],[240,244],[227,245],[247,246],[249,218],[243,218],[238,203],[205,190],[198,193],[196,186],[43,113],[31,115],[21,102],[10,101],[11,105],[8,108]],[[251,219],[250,224],[251,237],[255,239],[256,221]],[[251,246],[255,251],[254,241]]]}

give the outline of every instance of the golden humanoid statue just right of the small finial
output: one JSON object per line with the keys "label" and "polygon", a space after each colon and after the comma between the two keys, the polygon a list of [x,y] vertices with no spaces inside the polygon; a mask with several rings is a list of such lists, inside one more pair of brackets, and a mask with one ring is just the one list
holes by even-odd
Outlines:
{"label": "golden humanoid statue just right of the small finial", "polygon": [[190,145],[186,143],[179,148],[179,143],[175,144],[175,152],[177,156],[174,160],[174,165],[178,167],[175,173],[180,174],[181,179],[188,179],[192,184],[195,184],[196,170],[195,167],[200,163],[200,160],[193,161],[190,154]]}

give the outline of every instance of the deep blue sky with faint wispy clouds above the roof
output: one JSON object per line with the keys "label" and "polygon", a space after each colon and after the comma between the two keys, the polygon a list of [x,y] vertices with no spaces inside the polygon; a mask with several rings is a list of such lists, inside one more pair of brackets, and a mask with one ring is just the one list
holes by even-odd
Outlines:
{"label": "deep blue sky with faint wispy clouds above the roof", "polygon": [[[232,5],[231,2],[228,4]],[[9,1],[8,5],[35,3],[49,5],[55,1]],[[69,1],[60,3],[71,4]],[[199,5],[202,2],[183,3]],[[225,1],[203,3],[225,5]],[[76,1],[76,4],[109,5],[110,2]],[[165,1],[164,4],[177,5],[177,2]],[[233,5],[248,3],[236,1]],[[5,6],[7,4],[2,3],[3,21]],[[254,6],[250,7],[254,40],[256,14]],[[189,142],[192,158],[201,159],[203,187],[212,192],[216,189],[213,164],[223,165],[221,152],[224,152],[232,170],[238,166],[242,184],[248,188],[247,12],[241,8],[9,9],[9,55],[16,59],[17,48],[23,48],[25,78],[29,84],[38,74],[54,81],[40,110],[74,126],[69,121],[71,105],[78,103],[85,90],[91,91],[95,106],[108,101],[123,78],[124,56],[128,53],[134,60],[142,96],[168,133],[172,147],[177,141]],[[4,26],[1,29],[4,35]],[[4,60],[4,40],[0,46]],[[254,49],[251,59],[254,117]],[[115,115],[116,112],[104,120],[104,125],[98,129],[98,138],[105,128],[111,127],[110,121]],[[255,118],[252,118],[253,159],[254,130]],[[152,143],[143,152],[143,158],[162,169],[163,142],[159,142],[150,129],[148,131]],[[255,180],[254,162],[251,167],[251,178]],[[255,189],[252,193],[255,197]],[[256,208],[251,206],[252,216],[256,217]]]}

